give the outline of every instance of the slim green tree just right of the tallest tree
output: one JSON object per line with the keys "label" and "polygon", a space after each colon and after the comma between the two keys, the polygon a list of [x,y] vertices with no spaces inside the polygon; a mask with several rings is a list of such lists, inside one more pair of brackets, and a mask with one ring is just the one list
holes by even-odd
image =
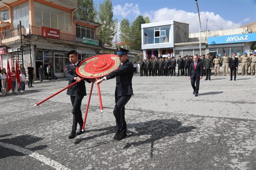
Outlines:
{"label": "slim green tree just right of the tallest tree", "polygon": [[131,43],[131,26],[128,19],[123,18],[120,23],[120,34],[121,42],[123,42],[123,47],[130,49]]}

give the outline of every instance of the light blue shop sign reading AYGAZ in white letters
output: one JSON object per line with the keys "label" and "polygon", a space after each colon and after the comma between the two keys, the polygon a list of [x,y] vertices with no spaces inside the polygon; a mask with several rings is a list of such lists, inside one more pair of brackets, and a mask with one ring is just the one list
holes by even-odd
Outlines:
{"label": "light blue shop sign reading AYGAZ in white letters", "polygon": [[256,33],[208,37],[208,45],[256,41]]}

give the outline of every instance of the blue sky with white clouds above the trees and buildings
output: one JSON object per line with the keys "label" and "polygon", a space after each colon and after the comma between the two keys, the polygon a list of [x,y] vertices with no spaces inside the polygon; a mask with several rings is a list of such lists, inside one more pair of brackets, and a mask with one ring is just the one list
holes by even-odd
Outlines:
{"label": "blue sky with white clouds above the trees and buildings", "polygon": [[[94,0],[96,7],[104,0]],[[256,21],[256,0],[198,0],[202,31],[235,29]],[[130,22],[137,16],[151,22],[175,20],[189,23],[189,33],[199,32],[195,0],[112,0],[114,18]]]}

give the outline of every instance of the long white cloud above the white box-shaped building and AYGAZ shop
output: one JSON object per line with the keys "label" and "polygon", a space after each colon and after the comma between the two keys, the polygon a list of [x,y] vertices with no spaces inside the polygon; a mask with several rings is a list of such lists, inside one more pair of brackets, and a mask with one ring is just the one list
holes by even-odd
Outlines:
{"label": "long white cloud above the white box-shaped building and AYGAZ shop", "polygon": [[[152,22],[175,20],[178,22],[189,23],[189,32],[199,32],[199,19],[198,13],[186,12],[183,10],[162,8],[157,11],[151,11],[150,13],[144,13],[143,16],[150,17]],[[227,30],[238,28],[241,24],[234,23],[229,20],[225,20],[220,15],[214,12],[200,12],[202,31],[206,30],[206,19],[208,19],[207,30]],[[248,19],[248,18],[246,18]]]}

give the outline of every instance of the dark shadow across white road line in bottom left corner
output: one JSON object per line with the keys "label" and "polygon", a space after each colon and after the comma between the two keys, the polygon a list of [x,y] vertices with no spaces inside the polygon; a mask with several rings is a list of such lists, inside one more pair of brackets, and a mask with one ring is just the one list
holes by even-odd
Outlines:
{"label": "dark shadow across white road line in bottom left corner", "polygon": [[[31,136],[31,135],[21,135],[21,136],[16,136],[13,138],[1,139],[2,137],[11,136],[11,135],[12,134],[1,135],[0,142],[7,143],[7,144],[13,144],[14,145],[13,147],[17,147],[17,150],[19,150],[19,147],[29,150],[29,152],[26,153],[26,155],[32,154],[33,151],[42,150],[42,149],[47,148],[47,145],[39,145],[34,148],[26,148],[27,145],[30,145],[32,143],[42,140],[42,138],[40,138],[40,137],[35,137],[35,136]],[[5,148],[3,145],[0,145],[0,150],[1,150],[0,159],[6,158],[9,156],[24,156],[25,155],[21,152],[18,152],[18,151],[9,149],[9,148]]]}

